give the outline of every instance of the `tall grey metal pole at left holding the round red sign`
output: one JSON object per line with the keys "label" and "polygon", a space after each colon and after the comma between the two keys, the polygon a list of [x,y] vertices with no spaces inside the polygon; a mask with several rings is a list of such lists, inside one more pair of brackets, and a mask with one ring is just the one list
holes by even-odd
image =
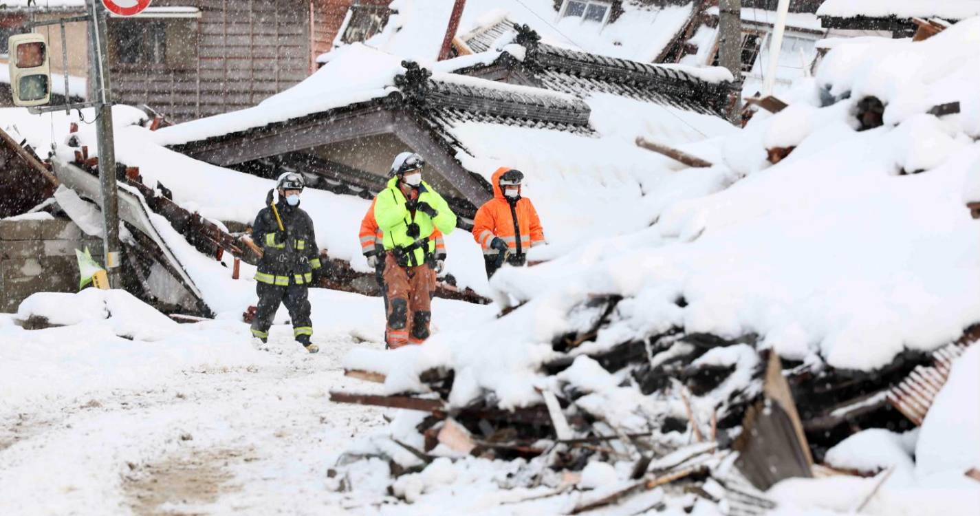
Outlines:
{"label": "tall grey metal pole at left holding the round red sign", "polygon": [[120,288],[120,265],[122,246],[120,245],[119,192],[116,184],[116,147],[113,141],[112,88],[109,81],[109,58],[106,17],[108,16],[100,0],[88,0],[88,10],[92,15],[92,40],[94,60],[91,73],[95,75],[96,134],[99,140],[99,182],[102,195],[102,224],[105,232],[104,250],[106,272],[109,273],[109,286]]}

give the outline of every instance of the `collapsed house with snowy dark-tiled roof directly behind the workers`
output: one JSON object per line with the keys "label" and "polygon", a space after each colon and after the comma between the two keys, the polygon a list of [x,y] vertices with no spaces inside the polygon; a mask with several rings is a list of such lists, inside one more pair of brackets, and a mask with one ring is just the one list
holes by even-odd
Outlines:
{"label": "collapsed house with snowy dark-tiled roof directly behind the workers", "polygon": [[[528,177],[546,225],[549,217],[570,217],[598,227],[628,209],[616,204],[624,189],[638,196],[666,171],[635,147],[635,126],[670,143],[731,130],[720,117],[726,74],[565,50],[539,43],[527,29],[516,41],[433,71],[348,47],[308,84],[249,110],[162,129],[157,141],[259,177],[295,170],[311,185],[364,198],[383,187],[391,157],[413,149],[435,172],[426,181],[447,197],[464,228],[490,198],[492,173],[509,166]],[[367,83],[355,94],[328,85],[354,66],[382,72],[362,78]],[[591,189],[568,189],[568,175]],[[607,213],[582,214],[569,204],[578,200]],[[550,236],[571,237],[561,228]]]}

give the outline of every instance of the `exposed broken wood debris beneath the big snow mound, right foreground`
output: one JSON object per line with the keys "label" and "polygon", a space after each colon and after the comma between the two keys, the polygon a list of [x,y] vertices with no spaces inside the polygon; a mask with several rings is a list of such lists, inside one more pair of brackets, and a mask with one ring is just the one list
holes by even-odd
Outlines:
{"label": "exposed broken wood debris beneath the big snow mound, right foreground", "polygon": [[[549,486],[553,495],[581,490],[572,514],[655,488],[724,500],[729,508],[741,504],[741,512],[729,514],[758,514],[772,507],[761,491],[829,471],[819,462],[840,440],[866,428],[918,425],[945,383],[950,360],[980,339],[976,327],[933,353],[907,351],[877,371],[834,370],[822,363],[783,364],[758,349],[756,335],[726,339],[672,328],[613,343],[610,335],[625,321],[617,310],[622,300],[593,296],[571,310],[574,330],[555,336],[554,354],[533,371],[537,403],[504,409],[488,390],[466,405],[451,403],[457,372],[445,364],[418,375],[421,387],[412,391],[332,391],[338,403],[424,413],[412,439],[390,438],[410,452],[409,462],[378,447],[342,463],[380,458],[397,479],[436,457],[520,460],[519,480],[502,488]],[[386,381],[380,369],[346,374]],[[601,496],[578,487],[577,476],[597,461],[631,471],[629,483]]]}

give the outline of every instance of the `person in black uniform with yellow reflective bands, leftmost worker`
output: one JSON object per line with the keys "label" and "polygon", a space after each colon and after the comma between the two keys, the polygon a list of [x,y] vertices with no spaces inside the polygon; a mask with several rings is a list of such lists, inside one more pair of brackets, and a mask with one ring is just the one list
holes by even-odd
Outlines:
{"label": "person in black uniform with yellow reflective bands, leftmost worker", "polygon": [[289,310],[296,341],[316,353],[319,347],[310,341],[313,322],[307,294],[310,284],[319,280],[319,248],[313,220],[299,207],[304,185],[299,174],[279,176],[275,184],[278,199],[270,190],[267,206],[252,226],[252,239],[264,253],[255,274],[259,306],[252,321],[252,335],[267,342],[272,318],[281,302]]}

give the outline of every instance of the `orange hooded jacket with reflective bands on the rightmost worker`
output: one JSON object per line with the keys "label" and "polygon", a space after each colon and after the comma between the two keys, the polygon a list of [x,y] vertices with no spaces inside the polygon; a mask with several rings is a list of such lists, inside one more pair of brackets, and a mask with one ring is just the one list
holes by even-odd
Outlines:
{"label": "orange hooded jacket with reflective bands on the rightmost worker", "polygon": [[[473,238],[483,247],[483,254],[498,252],[490,247],[494,236],[502,238],[511,248],[511,252],[517,254],[526,253],[527,249],[545,242],[545,232],[531,200],[521,197],[512,207],[504,197],[504,191],[500,189],[500,177],[509,170],[511,169],[502,167],[493,173],[493,198],[480,206],[473,219]],[[515,232],[519,232],[519,235]]]}

